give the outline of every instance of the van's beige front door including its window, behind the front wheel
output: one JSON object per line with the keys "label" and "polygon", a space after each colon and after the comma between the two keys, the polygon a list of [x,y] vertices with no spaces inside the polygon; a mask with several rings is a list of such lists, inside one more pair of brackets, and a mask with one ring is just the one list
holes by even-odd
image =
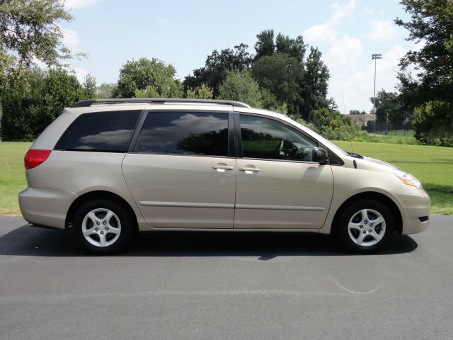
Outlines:
{"label": "van's beige front door including its window, behind the front wheel", "polygon": [[319,229],[331,205],[331,166],[311,160],[317,142],[280,120],[240,115],[234,228]]}

